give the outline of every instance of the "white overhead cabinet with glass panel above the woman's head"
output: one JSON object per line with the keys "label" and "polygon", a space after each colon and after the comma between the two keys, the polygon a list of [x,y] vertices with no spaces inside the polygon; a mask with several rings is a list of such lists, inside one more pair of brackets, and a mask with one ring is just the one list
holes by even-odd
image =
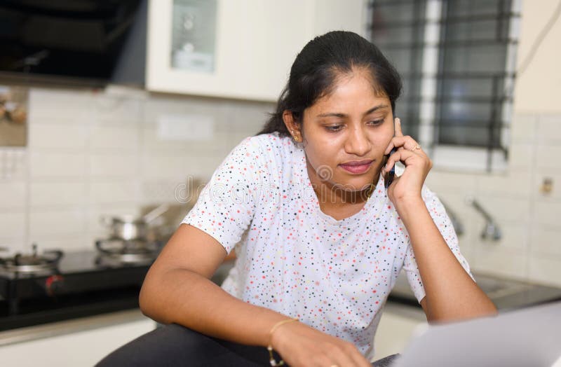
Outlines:
{"label": "white overhead cabinet with glass panel above the woman's head", "polygon": [[150,0],[146,86],[276,101],[307,41],[363,33],[363,0]]}

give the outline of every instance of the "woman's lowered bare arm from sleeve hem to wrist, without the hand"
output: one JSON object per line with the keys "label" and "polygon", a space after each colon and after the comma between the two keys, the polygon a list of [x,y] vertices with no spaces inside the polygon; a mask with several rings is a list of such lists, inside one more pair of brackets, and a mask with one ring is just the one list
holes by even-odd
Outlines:
{"label": "woman's lowered bare arm from sleeve hem to wrist, without the hand", "polygon": [[226,251],[210,235],[182,224],[151,266],[140,291],[144,314],[206,335],[266,346],[269,330],[287,317],[235,298],[210,281]]}

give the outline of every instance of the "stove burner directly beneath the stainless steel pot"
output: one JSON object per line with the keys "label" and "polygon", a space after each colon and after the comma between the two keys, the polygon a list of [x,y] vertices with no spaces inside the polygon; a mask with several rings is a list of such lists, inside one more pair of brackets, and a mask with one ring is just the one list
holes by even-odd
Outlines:
{"label": "stove burner directly beneath the stainless steel pot", "polygon": [[158,242],[143,240],[97,240],[95,247],[100,251],[99,265],[149,264],[160,251]]}

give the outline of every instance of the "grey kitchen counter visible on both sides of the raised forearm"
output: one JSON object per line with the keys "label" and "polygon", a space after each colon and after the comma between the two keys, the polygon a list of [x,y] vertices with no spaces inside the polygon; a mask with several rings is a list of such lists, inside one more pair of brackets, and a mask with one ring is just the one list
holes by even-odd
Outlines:
{"label": "grey kitchen counter visible on both sides of the raised forearm", "polygon": [[[503,279],[493,275],[474,274],[473,277],[500,311],[561,300],[561,288]],[[404,272],[401,272],[398,277],[388,301],[421,307],[407,283]]]}

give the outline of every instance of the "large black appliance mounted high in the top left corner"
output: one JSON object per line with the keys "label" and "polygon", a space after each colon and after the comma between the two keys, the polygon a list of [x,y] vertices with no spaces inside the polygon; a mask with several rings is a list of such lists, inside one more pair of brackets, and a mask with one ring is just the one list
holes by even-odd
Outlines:
{"label": "large black appliance mounted high in the top left corner", "polygon": [[0,80],[103,86],[140,75],[146,9],[146,0],[0,1]]}

